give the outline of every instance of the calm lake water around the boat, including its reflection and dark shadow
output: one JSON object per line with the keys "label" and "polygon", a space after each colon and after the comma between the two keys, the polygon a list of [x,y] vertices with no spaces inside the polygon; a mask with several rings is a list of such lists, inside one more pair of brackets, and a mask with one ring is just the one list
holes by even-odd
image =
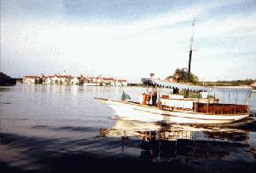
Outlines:
{"label": "calm lake water around the boat, including its reflection and dark shadow", "polygon": [[[256,172],[255,118],[189,126],[119,119],[95,97],[138,101],[145,88],[17,84],[0,88],[0,171],[123,165],[189,172]],[[256,93],[249,104],[256,112]],[[131,165],[131,166],[127,166]],[[100,166],[100,167],[101,167]],[[1,171],[2,172],[2,171]]]}

